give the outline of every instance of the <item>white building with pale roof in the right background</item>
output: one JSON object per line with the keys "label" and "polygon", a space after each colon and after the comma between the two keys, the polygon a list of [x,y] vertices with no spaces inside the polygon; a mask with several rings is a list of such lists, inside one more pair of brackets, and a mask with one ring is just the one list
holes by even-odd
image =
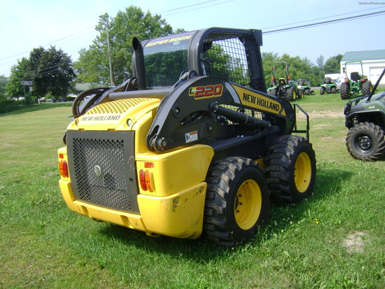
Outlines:
{"label": "white building with pale roof in the right background", "polygon": [[[360,61],[362,62],[362,68]],[[367,51],[350,51],[343,55],[340,62],[341,74],[345,77],[345,65],[347,77],[351,72],[359,72],[366,75],[374,85],[379,79],[379,75],[385,68],[385,50],[367,50]],[[381,79],[380,84],[385,85],[385,77]]]}

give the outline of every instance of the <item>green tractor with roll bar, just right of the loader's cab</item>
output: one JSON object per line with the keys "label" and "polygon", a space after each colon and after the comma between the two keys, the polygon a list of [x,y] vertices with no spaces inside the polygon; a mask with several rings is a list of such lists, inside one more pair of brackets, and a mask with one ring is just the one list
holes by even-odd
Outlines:
{"label": "green tractor with roll bar, just right of the loader's cab", "polygon": [[[282,77],[278,79],[278,81],[275,79],[275,65],[277,63],[285,63],[286,65],[285,67],[286,78]],[[294,101],[294,99],[296,99],[297,96],[299,96],[297,81],[290,79],[289,66],[285,61],[275,62],[274,66],[272,67],[271,85],[272,86],[268,87],[268,94],[270,94],[270,96],[285,98],[288,101]]]}

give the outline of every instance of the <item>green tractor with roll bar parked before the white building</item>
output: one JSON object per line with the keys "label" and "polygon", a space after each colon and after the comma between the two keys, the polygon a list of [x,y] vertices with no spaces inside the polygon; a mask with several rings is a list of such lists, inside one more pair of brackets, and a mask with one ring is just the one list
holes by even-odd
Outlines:
{"label": "green tractor with roll bar parked before the white building", "polygon": [[[347,68],[346,64],[348,63],[360,63],[361,64],[361,74],[359,72],[350,73],[350,78],[347,77]],[[362,96],[367,96],[372,91],[373,86],[372,82],[369,81],[366,75],[363,75],[362,62],[361,61],[349,61],[345,62],[345,67],[343,67],[343,72],[345,73],[345,81],[340,85],[340,94],[341,99],[350,98],[356,94],[362,93]]]}

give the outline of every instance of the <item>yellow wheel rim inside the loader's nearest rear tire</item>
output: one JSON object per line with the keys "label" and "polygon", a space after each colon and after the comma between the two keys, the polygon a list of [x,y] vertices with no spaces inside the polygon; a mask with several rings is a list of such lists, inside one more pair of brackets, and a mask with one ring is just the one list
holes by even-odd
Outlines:
{"label": "yellow wheel rim inside the loader's nearest rear tire", "polygon": [[241,229],[250,229],[258,221],[262,208],[262,194],[258,183],[249,179],[239,187],[234,201],[236,223]]}

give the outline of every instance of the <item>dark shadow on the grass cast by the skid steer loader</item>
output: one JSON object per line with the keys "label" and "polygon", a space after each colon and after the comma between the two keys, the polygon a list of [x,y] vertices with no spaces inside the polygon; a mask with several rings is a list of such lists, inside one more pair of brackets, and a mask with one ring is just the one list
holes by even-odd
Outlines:
{"label": "dark shadow on the grass cast by the skid steer loader", "polygon": [[[246,246],[263,246],[263,242],[288,229],[289,219],[291,222],[301,222],[309,210],[313,210],[319,202],[331,196],[340,189],[340,182],[350,178],[352,174],[348,171],[333,169],[318,169],[316,176],[316,188],[313,196],[303,200],[301,203],[291,205],[278,205],[272,203],[270,206],[269,219],[260,234],[248,242]],[[339,176],[339,177],[336,177]],[[284,221],[285,220],[285,221]],[[226,248],[218,246],[207,240],[204,236],[199,239],[178,239],[166,236],[148,237],[144,232],[128,229],[117,225],[109,225],[100,229],[100,233],[111,239],[118,239],[127,246],[135,246],[151,252],[167,254],[175,258],[194,260],[197,263],[208,262],[213,259],[234,254],[238,248]],[[268,237],[266,237],[268,236]],[[241,249],[243,245],[239,246]]]}

